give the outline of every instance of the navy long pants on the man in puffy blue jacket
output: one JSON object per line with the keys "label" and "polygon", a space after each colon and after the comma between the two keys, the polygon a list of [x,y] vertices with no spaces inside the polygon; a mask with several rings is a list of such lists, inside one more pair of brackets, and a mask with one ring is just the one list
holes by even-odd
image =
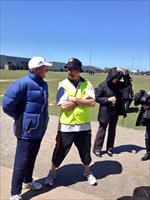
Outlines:
{"label": "navy long pants on the man in puffy blue jacket", "polygon": [[17,139],[11,195],[20,194],[22,183],[30,183],[32,181],[34,163],[40,144],[41,140],[27,141]]}

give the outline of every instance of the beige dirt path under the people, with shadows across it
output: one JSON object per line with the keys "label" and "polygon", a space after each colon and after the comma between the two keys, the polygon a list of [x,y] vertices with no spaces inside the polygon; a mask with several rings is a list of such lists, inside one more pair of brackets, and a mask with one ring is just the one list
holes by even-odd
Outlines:
{"label": "beige dirt path under the people, with shadows across it", "polygon": [[[16,139],[12,134],[13,120],[1,111],[1,165],[12,168]],[[50,116],[48,129],[37,157],[34,175],[43,178],[50,169],[55,146],[58,117]],[[92,144],[98,128],[92,122]],[[57,174],[57,187],[66,186],[85,194],[106,200],[115,200],[132,195],[133,189],[150,185],[150,162],[140,161],[145,153],[144,131],[117,127],[115,154],[97,158],[92,154],[91,168],[97,177],[98,186],[91,187],[83,178],[83,168],[75,146],[72,146]],[[104,144],[105,149],[105,144]]]}

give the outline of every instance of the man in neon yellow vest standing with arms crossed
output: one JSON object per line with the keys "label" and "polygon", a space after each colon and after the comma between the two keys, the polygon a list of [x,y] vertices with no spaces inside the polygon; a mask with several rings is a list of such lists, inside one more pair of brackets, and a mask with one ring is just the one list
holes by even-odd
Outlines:
{"label": "man in neon yellow vest standing with arms crossed", "polygon": [[96,185],[92,174],[91,162],[91,125],[89,107],[95,105],[94,89],[91,83],[80,76],[82,63],[76,58],[69,59],[65,66],[68,78],[61,81],[57,91],[57,105],[60,107],[60,119],[56,146],[52,156],[52,166],[45,184],[52,186],[56,178],[56,170],[66,157],[74,143],[84,165],[84,177],[89,184]]}

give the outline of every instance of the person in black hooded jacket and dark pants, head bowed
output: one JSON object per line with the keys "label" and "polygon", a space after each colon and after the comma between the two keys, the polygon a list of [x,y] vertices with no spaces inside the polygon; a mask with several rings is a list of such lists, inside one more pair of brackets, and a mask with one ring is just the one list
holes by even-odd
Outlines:
{"label": "person in black hooded jacket and dark pants, head bowed", "polygon": [[[105,138],[106,128],[108,128],[108,138],[106,151],[109,156],[113,155],[113,147],[116,134],[118,116],[122,114],[126,117],[123,88],[128,85],[125,83],[125,72],[120,68],[112,68],[104,82],[95,91],[96,102],[100,104],[98,121],[99,128],[94,142],[93,153],[101,157],[102,147]],[[122,80],[123,81],[120,81]]]}

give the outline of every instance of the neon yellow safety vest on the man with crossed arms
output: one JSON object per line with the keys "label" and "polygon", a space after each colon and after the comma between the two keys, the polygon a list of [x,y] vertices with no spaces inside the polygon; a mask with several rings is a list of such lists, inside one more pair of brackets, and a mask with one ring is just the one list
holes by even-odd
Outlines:
{"label": "neon yellow safety vest on the man with crossed arms", "polygon": [[[71,84],[71,85],[70,85]],[[63,81],[62,87],[64,87],[68,96],[74,96],[77,98],[83,98],[88,96],[88,81],[85,80],[80,83],[78,88],[71,87],[72,83],[66,79]],[[85,124],[90,122],[89,107],[83,105],[77,105],[72,109],[61,111],[60,123],[61,124]]]}

